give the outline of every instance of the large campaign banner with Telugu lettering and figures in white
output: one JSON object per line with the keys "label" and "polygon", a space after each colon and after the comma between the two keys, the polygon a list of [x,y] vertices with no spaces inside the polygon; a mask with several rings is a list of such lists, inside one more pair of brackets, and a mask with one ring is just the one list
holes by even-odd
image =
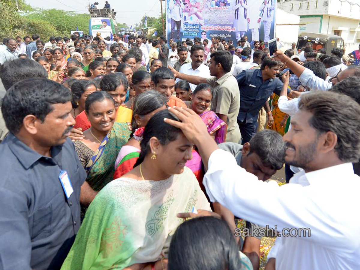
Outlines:
{"label": "large campaign banner with Telugu lettering and figures in white", "polygon": [[166,0],[166,36],[174,41],[220,36],[267,42],[275,36],[276,0]]}

